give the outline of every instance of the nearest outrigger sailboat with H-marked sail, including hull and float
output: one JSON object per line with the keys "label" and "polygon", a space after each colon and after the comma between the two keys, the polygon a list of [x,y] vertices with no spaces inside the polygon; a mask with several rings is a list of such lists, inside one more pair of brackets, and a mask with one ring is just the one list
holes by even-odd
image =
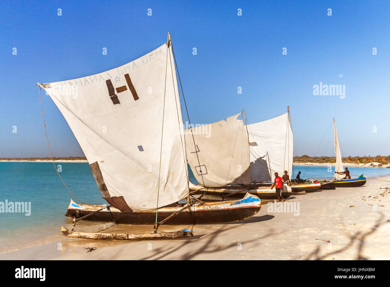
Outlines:
{"label": "nearest outrigger sailboat with H-marked sail, including hull and float", "polygon": [[[259,198],[206,202],[191,198],[184,125],[170,34],[152,52],[109,71],[73,80],[39,84],[66,119],[108,205],[78,204],[66,212],[75,223],[115,221],[158,226],[223,223],[253,216]],[[179,201],[186,199],[186,203]],[[175,236],[188,236],[188,230]],[[144,235],[166,238],[171,235]],[[99,238],[100,237],[100,238]],[[97,239],[138,238],[128,235]],[[89,238],[89,237],[88,237]],[[138,240],[136,239],[136,240]]]}

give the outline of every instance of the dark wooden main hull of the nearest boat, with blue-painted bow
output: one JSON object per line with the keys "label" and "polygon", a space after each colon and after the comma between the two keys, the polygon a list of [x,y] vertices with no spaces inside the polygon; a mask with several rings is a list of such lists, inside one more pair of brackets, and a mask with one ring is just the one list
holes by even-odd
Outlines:
{"label": "dark wooden main hull of the nearest boat, with blue-painted bow", "polygon": [[[104,205],[90,207],[74,203],[71,200],[66,217],[80,218],[92,213]],[[161,221],[182,207],[163,207],[158,210],[157,221]],[[193,206],[186,209],[167,221],[167,225],[195,225],[239,221],[254,216],[261,208],[261,201],[257,196],[246,194],[242,200],[217,201],[206,205]],[[147,212],[121,212],[113,207],[103,209],[87,217],[89,221],[116,222],[132,225],[153,225],[156,221],[156,210]]]}

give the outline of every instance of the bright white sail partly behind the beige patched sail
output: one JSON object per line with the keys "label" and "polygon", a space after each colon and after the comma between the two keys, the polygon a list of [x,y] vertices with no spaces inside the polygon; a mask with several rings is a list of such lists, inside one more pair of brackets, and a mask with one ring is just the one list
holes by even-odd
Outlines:
{"label": "bright white sail partly behind the beige patched sail", "polygon": [[293,131],[289,114],[247,125],[250,145],[250,171],[255,182],[273,181],[287,170],[293,171]]}

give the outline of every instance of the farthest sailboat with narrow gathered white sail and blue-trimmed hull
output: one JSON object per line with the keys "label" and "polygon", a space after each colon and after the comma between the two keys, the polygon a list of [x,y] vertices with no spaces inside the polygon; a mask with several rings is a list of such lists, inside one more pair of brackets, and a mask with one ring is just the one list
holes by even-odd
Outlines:
{"label": "farthest sailboat with narrow gathered white sail and blue-trimmed hull", "polygon": [[[318,180],[321,184],[322,189],[335,189],[336,187],[359,187],[365,185],[366,179],[363,175],[358,178],[346,179],[344,175],[340,174],[344,172],[344,167],[342,164],[339,136],[337,135],[336,121],[333,118],[333,124],[335,127],[334,141],[335,141],[335,154],[336,154],[336,164],[335,164],[335,173],[332,179]],[[306,180],[310,182],[310,180]]]}

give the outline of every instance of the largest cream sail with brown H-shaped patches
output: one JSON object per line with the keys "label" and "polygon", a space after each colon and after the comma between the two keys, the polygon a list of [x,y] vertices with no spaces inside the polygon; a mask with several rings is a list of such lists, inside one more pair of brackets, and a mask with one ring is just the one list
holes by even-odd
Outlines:
{"label": "largest cream sail with brown H-shaped patches", "polygon": [[103,73],[41,84],[73,131],[103,198],[121,211],[156,209],[158,193],[158,207],[189,194],[184,125],[168,43]]}

